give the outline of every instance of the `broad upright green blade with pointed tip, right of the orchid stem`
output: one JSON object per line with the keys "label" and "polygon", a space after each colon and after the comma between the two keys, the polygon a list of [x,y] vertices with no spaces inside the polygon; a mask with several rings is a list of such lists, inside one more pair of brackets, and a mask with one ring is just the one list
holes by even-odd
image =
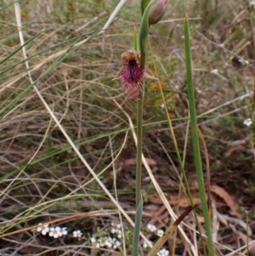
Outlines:
{"label": "broad upright green blade with pointed tip, right of the orchid stem", "polygon": [[190,105],[190,127],[191,127],[191,138],[195,158],[195,170],[196,177],[199,186],[199,193],[201,197],[201,207],[203,216],[205,219],[205,225],[207,230],[207,237],[209,243],[209,255],[215,255],[213,242],[212,242],[212,230],[211,221],[209,218],[208,208],[207,208],[207,194],[205,189],[205,182],[203,178],[203,171],[201,166],[201,153],[199,145],[199,137],[197,131],[196,113],[195,113],[195,94],[193,88],[193,78],[192,78],[192,63],[190,54],[190,34],[189,34],[189,21],[188,18],[184,18],[184,46],[185,46],[185,62],[186,62],[186,72],[187,72],[187,85],[188,85],[188,95],[189,95],[189,105]]}

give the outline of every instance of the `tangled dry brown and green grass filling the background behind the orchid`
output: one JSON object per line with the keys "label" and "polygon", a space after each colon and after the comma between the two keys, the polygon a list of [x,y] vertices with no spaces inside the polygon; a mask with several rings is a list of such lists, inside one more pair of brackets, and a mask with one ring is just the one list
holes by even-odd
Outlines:
{"label": "tangled dry brown and green grass filling the background behind the orchid", "polygon": [[[156,63],[192,196],[199,206],[187,122],[181,20],[185,13],[196,18],[190,20],[195,96],[206,142],[201,155],[212,179],[215,247],[218,255],[246,255],[246,242],[254,240],[255,231],[254,125],[243,124],[246,118],[254,120],[254,7],[252,1],[222,1],[213,10],[209,3],[218,2],[178,1],[169,6],[166,20],[150,31],[148,67],[155,70]],[[22,1],[19,10],[3,1],[1,255],[130,253],[135,101],[127,99],[111,79],[120,69],[122,52],[132,48],[140,10],[139,1],[127,1],[102,30],[116,6],[117,1],[107,0],[43,0]],[[25,51],[20,37],[25,39]],[[144,236],[155,241],[156,235],[145,229],[146,224],[165,229],[173,213],[157,196],[148,168],[175,214],[182,213],[189,202],[161,109],[160,90],[154,82],[148,82],[145,90],[144,156],[149,167],[143,175],[143,223]],[[117,206],[105,191],[113,195]],[[201,251],[193,222],[190,215],[181,226],[186,237],[178,231],[166,245],[172,255]],[[68,234],[57,239],[42,236],[37,231],[39,223],[65,226]],[[122,224],[121,245],[118,249],[96,247],[91,237],[113,236],[111,223]],[[72,230],[81,230],[82,236],[73,237]],[[190,251],[189,242],[195,250]],[[248,250],[255,255],[254,247]]]}

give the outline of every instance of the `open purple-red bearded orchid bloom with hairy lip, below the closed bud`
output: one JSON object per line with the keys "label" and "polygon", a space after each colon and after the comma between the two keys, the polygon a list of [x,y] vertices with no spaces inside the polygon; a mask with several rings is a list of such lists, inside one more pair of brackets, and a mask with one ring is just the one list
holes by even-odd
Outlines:
{"label": "open purple-red bearded orchid bloom with hairy lip, below the closed bud", "polygon": [[140,54],[133,49],[122,54],[122,68],[112,79],[120,79],[124,93],[133,99],[137,99],[144,89],[144,77],[157,79],[145,66],[140,67]]}

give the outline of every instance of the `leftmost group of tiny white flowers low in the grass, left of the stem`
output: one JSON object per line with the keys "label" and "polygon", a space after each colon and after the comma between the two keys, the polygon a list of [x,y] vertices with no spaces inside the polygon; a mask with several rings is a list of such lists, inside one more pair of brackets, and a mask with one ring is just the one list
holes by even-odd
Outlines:
{"label": "leftmost group of tiny white flowers low in the grass, left of the stem", "polygon": [[[42,224],[39,223],[37,227],[37,232],[40,232],[43,236],[48,236],[58,238],[61,236],[66,236],[68,234],[67,228],[61,228],[59,226],[56,227],[49,227],[48,224]],[[81,230],[74,230],[73,231],[73,237],[81,238],[82,237],[82,232]]]}

